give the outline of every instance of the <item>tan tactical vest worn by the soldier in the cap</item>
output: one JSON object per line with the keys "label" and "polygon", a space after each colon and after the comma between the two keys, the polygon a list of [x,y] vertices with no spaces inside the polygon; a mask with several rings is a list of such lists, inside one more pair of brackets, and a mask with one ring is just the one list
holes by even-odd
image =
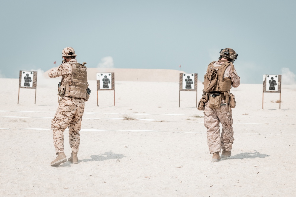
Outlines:
{"label": "tan tactical vest worn by the soldier in the cap", "polygon": [[87,82],[86,62],[83,64],[68,62],[72,64],[72,79],[70,82],[62,82],[65,86],[65,93],[62,96],[75,97],[80,99],[86,98],[86,89],[89,86]]}

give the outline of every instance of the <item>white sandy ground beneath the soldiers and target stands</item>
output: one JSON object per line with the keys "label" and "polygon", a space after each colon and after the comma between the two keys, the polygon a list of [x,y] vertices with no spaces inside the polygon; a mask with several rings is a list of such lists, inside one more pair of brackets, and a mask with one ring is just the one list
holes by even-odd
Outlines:
{"label": "white sandy ground beneath the soldiers and target stands", "polygon": [[179,108],[178,82],[116,81],[115,106],[99,91],[97,107],[91,80],[78,165],[51,167],[59,79],[38,80],[36,104],[23,88],[17,104],[19,79],[0,79],[0,196],[295,196],[295,86],[282,85],[281,109],[279,93],[262,109],[262,84],[233,88],[232,156],[212,162],[196,92]]}

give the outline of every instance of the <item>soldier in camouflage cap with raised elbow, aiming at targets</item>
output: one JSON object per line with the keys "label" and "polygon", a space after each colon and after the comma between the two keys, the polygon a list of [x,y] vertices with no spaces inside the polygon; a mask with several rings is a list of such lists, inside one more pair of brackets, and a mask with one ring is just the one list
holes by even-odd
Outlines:
{"label": "soldier in camouflage cap with raised elbow, aiming at targets", "polygon": [[[78,149],[80,144],[79,131],[81,129],[81,118],[84,112],[84,99],[86,98],[87,73],[86,67],[78,64],[75,59],[76,54],[73,48],[67,47],[62,50],[63,63],[49,71],[49,77],[62,76],[61,86],[58,95],[61,96],[57,112],[52,119],[52,131],[54,147],[57,158],[51,162],[52,166],[58,166],[67,161],[64,153],[64,130],[69,127],[69,143],[72,148],[71,157],[68,161],[73,164],[78,163]],[[76,65],[81,65],[79,73],[79,83],[74,83],[77,77],[73,69]]]}

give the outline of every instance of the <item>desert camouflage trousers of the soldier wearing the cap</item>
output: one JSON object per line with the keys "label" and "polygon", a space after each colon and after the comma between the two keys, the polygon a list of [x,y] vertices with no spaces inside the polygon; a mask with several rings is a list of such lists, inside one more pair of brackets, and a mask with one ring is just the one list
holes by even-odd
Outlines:
{"label": "desert camouflage trousers of the soldier wearing the cap", "polygon": [[78,152],[80,144],[81,118],[84,112],[84,99],[64,97],[59,102],[57,112],[52,119],[54,148],[64,152],[64,131],[69,127],[69,143],[73,152]]}

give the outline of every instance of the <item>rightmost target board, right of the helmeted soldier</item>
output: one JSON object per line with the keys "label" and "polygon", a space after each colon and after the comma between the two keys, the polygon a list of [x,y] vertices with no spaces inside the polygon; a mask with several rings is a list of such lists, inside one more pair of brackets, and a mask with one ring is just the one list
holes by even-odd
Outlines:
{"label": "rightmost target board, right of the helmeted soldier", "polygon": [[263,92],[281,92],[281,75],[263,75]]}

